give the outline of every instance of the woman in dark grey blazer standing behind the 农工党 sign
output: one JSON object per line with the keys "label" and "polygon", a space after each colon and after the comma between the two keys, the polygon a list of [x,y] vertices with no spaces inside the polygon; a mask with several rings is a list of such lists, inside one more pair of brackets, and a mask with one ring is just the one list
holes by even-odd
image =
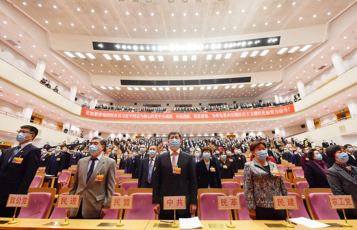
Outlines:
{"label": "woman in dark grey blazer standing behind the \u519c\u5de5\u515a sign", "polygon": [[[334,162],[326,171],[328,184],[333,195],[352,195],[355,207],[357,207],[357,167],[348,164],[348,153],[340,145],[327,147],[326,154]],[[341,220],[345,219],[343,212],[337,209]],[[347,219],[357,219],[357,209],[345,209]]]}

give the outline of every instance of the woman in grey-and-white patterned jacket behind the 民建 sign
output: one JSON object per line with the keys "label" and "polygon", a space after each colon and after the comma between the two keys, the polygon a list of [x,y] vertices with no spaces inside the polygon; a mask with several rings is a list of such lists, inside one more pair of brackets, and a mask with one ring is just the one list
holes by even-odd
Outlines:
{"label": "woman in grey-and-white patterned jacket behind the \u6c11\u5efa sign", "polygon": [[[247,209],[252,220],[285,220],[285,210],[275,210],[273,196],[288,196],[281,176],[273,176],[279,171],[275,163],[266,160],[268,152],[264,141],[255,141],[250,145],[255,156],[244,167],[243,184]],[[288,211],[291,217],[291,211]]]}

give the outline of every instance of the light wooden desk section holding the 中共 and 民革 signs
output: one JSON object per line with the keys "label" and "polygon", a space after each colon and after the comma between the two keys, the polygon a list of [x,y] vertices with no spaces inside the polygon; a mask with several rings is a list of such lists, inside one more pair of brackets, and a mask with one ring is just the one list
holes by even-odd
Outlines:
{"label": "light wooden desk section holding the \u4e2d\u5171 and \u6c11\u9769 signs", "polygon": [[[163,223],[160,220],[150,220],[149,224],[147,224],[145,230],[172,230],[172,228],[157,228],[154,227],[156,223]],[[177,230],[180,230],[180,221],[176,220],[176,224],[178,224]],[[201,220],[201,224],[203,229],[211,229],[210,224],[230,224],[229,220]],[[236,225],[235,229],[245,229],[245,230],[263,230],[258,224],[251,220],[233,220],[232,224]],[[222,228],[222,229],[212,229],[212,230],[229,230],[229,228]]]}

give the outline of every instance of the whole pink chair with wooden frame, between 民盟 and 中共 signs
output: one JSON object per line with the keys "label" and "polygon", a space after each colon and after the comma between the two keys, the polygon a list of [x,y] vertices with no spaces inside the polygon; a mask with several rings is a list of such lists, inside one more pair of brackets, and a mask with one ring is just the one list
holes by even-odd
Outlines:
{"label": "whole pink chair with wooden frame, between \u6c11\u76df and \u4e2d\u5171 signs", "polygon": [[128,196],[133,196],[133,208],[125,210],[125,220],[157,219],[152,204],[152,189],[129,189]]}

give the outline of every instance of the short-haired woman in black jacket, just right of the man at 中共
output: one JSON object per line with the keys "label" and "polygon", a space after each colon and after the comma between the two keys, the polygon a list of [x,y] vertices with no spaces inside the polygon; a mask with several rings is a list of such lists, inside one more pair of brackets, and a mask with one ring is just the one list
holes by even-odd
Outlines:
{"label": "short-haired woman in black jacket, just right of the man at \u4e2d\u5171", "polygon": [[205,146],[201,149],[201,154],[203,160],[196,163],[197,189],[222,189],[217,163],[210,159],[212,149]]}

